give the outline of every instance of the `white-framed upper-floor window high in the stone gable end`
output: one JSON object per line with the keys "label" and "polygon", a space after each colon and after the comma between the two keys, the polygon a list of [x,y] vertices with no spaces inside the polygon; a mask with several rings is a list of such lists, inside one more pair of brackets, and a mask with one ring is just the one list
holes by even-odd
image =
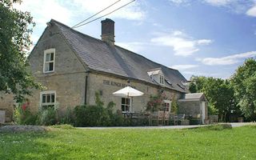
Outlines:
{"label": "white-framed upper-floor window high in the stone gable end", "polygon": [[44,51],[43,73],[54,72],[55,49]]}

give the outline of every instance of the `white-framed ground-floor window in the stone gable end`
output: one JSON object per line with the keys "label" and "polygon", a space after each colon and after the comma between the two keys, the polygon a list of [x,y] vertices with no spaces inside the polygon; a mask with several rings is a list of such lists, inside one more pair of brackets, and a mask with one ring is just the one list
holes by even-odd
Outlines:
{"label": "white-framed ground-floor window in the stone gable end", "polygon": [[40,93],[41,107],[46,109],[48,107],[54,107],[56,102],[56,91],[49,90]]}

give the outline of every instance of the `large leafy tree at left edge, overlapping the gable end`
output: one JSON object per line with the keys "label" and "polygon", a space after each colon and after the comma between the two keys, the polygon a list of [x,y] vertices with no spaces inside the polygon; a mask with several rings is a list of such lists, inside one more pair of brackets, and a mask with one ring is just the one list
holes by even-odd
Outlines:
{"label": "large leafy tree at left edge, overlapping the gable end", "polygon": [[0,91],[14,94],[21,102],[30,89],[40,86],[28,71],[26,59],[34,22],[30,13],[15,10],[14,2],[21,1],[0,1]]}

